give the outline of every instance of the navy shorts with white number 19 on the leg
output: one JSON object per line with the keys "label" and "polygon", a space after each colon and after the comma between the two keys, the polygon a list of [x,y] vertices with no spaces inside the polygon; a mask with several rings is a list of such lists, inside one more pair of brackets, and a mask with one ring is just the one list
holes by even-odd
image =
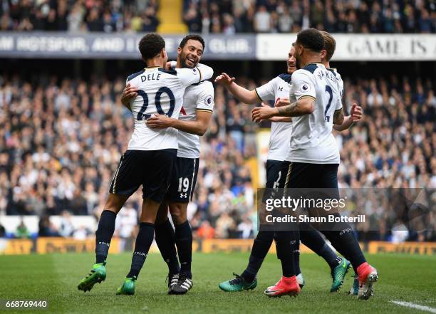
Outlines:
{"label": "navy shorts with white number 19 on the leg", "polygon": [[176,203],[189,203],[197,183],[199,158],[177,157],[172,167],[167,199]]}

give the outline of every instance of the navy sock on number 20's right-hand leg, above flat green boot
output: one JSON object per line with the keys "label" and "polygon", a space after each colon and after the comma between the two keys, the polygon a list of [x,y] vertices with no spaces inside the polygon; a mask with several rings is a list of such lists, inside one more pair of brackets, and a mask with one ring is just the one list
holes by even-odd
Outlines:
{"label": "navy sock on number 20's right-hand leg, above flat green boot", "polygon": [[135,251],[133,251],[132,265],[127,278],[139,276],[142,266],[144,265],[145,258],[147,257],[148,250],[153,242],[155,234],[155,225],[148,222],[140,223],[140,230],[136,236]]}

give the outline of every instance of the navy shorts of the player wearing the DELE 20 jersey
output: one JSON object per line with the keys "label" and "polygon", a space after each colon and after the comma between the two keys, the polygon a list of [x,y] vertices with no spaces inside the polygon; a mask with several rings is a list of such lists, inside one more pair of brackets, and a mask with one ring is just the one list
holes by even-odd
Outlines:
{"label": "navy shorts of the player wearing the DELE 20 jersey", "polygon": [[121,156],[109,192],[131,195],[142,184],[142,198],[162,203],[170,186],[176,149],[126,150]]}

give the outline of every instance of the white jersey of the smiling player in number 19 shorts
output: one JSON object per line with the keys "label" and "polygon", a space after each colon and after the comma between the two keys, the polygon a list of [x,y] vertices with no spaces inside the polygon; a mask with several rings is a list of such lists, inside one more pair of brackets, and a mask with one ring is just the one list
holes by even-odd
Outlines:
{"label": "white jersey of the smiling player in number 19 shorts", "polygon": [[[179,120],[197,120],[197,111],[213,112],[214,85],[209,81],[189,86],[183,95],[183,107],[180,110]],[[179,131],[179,150],[177,157],[199,158],[199,136]]]}

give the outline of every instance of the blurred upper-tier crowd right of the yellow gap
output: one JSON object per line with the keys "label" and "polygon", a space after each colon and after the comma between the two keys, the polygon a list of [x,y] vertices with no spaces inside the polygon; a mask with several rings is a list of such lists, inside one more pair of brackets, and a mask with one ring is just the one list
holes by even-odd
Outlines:
{"label": "blurred upper-tier crowd right of the yellow gap", "polygon": [[435,1],[185,0],[185,23],[202,33],[434,33]]}

